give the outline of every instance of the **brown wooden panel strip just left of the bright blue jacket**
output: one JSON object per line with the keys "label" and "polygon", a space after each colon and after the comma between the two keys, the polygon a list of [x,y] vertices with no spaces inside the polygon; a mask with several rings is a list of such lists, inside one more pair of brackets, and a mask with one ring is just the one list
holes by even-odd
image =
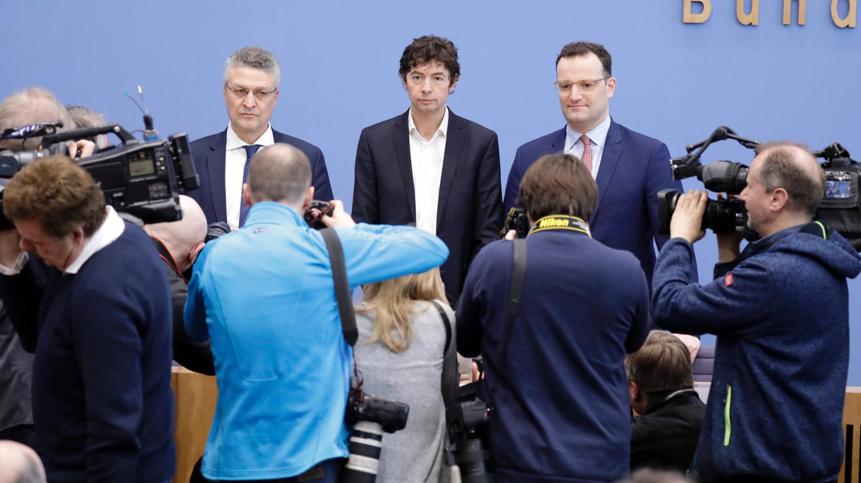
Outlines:
{"label": "brown wooden panel strip just left of the bright blue jacket", "polygon": [[177,442],[177,474],[174,483],[188,483],[191,469],[203,455],[209,427],[215,415],[218,387],[215,377],[175,367],[170,386],[177,398],[177,420],[174,440]]}

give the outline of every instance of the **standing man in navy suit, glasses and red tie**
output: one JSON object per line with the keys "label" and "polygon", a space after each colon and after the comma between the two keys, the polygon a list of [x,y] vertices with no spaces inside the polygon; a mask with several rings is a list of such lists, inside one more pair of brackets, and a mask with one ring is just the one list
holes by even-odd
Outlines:
{"label": "standing man in navy suit, glasses and red tie", "polygon": [[[681,191],[682,183],[672,180],[670,152],[664,143],[610,118],[610,97],[616,91],[611,65],[610,53],[599,44],[576,42],[562,47],[554,84],[567,125],[517,148],[504,206],[507,212],[515,205],[523,173],[536,159],[553,152],[573,154],[598,183],[598,207],[589,220],[592,236],[633,253],[651,285],[653,240],[659,250],[667,240],[658,235],[657,193]],[[696,261],[691,275],[697,276]]]}

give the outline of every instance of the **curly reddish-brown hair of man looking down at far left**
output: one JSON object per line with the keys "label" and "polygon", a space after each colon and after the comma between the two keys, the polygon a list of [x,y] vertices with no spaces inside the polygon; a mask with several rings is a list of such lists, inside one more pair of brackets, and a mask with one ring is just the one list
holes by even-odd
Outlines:
{"label": "curly reddish-brown hair of man looking down at far left", "polygon": [[99,183],[62,154],[27,164],[3,190],[3,214],[9,220],[39,220],[42,229],[57,238],[79,227],[84,236],[92,236],[105,213]]}

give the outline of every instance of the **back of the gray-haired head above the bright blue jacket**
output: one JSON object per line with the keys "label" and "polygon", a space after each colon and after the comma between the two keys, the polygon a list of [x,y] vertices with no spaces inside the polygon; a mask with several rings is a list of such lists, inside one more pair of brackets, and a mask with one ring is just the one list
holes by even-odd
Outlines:
{"label": "back of the gray-haired head above the bright blue jacket", "polygon": [[311,163],[304,152],[288,144],[266,146],[251,158],[249,201],[276,201],[300,209],[311,187]]}

